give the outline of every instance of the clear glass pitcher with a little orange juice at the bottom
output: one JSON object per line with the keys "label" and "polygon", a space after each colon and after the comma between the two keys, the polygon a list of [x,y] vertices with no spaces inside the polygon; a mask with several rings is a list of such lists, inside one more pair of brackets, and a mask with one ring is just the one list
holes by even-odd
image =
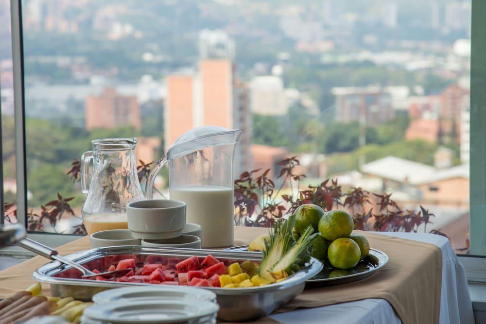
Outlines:
{"label": "clear glass pitcher with a little orange juice at the bottom", "polygon": [[93,151],[81,156],[81,189],[88,194],[81,209],[83,223],[88,234],[126,229],[126,205],[144,199],[135,159],[137,138],[103,138],[91,143]]}

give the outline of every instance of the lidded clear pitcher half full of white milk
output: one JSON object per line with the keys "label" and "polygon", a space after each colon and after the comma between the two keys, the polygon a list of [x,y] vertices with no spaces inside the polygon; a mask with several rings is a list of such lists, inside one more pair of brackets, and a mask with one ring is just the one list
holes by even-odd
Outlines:
{"label": "lidded clear pitcher half full of white milk", "polygon": [[186,222],[202,227],[203,248],[233,245],[234,155],[240,130],[202,126],[180,136],[151,172],[147,199],[158,171],[169,164],[171,199],[186,202]]}

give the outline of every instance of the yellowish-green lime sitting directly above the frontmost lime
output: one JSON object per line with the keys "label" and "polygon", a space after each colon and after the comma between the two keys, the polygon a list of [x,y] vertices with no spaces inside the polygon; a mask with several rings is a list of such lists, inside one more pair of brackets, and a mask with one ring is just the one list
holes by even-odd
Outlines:
{"label": "yellowish-green lime sitting directly above the frontmost lime", "polygon": [[348,238],[353,231],[354,221],[344,210],[331,210],[321,217],[318,227],[324,239],[333,241]]}

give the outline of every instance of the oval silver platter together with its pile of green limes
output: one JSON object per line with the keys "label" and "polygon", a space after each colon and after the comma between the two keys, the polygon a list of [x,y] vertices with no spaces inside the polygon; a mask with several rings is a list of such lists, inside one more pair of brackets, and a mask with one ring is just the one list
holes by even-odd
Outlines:
{"label": "oval silver platter together with its pile of green limes", "polygon": [[[353,219],[344,210],[325,212],[314,204],[301,205],[289,217],[294,239],[306,234],[312,238],[311,256],[323,264],[316,276],[307,280],[306,288],[345,284],[364,279],[381,269],[388,256],[371,248],[368,240],[353,232]],[[312,229],[311,229],[312,228]],[[266,253],[271,234],[261,235],[249,245],[231,247],[228,251]]]}

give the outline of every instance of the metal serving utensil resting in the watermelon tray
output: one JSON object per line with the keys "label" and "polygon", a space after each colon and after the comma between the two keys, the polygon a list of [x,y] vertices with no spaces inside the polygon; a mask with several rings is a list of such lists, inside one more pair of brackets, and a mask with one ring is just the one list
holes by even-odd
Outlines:
{"label": "metal serving utensil resting in the watermelon tray", "polygon": [[122,276],[126,273],[129,273],[131,270],[134,270],[132,268],[129,269],[123,269],[123,270],[114,270],[114,271],[108,271],[108,272],[102,272],[102,273],[94,273],[92,271],[87,270],[85,267],[82,265],[79,265],[71,260],[68,260],[64,256],[60,256],[59,253],[57,253],[56,250],[51,249],[48,246],[45,246],[44,244],[40,244],[39,242],[36,242],[35,240],[32,239],[22,239],[17,242],[17,245],[23,247],[26,250],[29,250],[31,252],[34,252],[35,254],[38,254],[39,256],[44,256],[47,257],[48,259],[56,260],[64,264],[68,264],[71,267],[78,269],[83,273],[83,278],[89,279],[93,278],[96,276],[102,276],[102,277],[117,277],[117,276]]}

